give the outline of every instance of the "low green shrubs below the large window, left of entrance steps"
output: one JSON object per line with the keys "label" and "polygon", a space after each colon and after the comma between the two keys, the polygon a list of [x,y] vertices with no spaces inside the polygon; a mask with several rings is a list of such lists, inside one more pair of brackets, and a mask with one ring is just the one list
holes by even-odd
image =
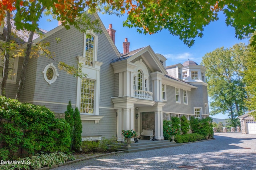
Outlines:
{"label": "low green shrubs below the large window, left of entrance steps", "polygon": [[82,152],[88,153],[105,153],[114,152],[117,148],[116,138],[102,138],[99,141],[84,141],[82,142]]}

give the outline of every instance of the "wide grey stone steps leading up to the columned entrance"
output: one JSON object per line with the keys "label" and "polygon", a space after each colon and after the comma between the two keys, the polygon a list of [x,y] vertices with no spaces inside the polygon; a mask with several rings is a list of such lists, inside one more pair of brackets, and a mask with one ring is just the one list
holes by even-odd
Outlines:
{"label": "wide grey stone steps leading up to the columned entrance", "polygon": [[152,149],[160,149],[160,148],[168,148],[173,146],[180,146],[182,144],[176,144],[174,142],[170,142],[170,140],[161,140],[161,141],[150,141],[143,143],[132,143],[131,147],[127,147],[127,144],[119,144],[117,150],[122,150],[124,152],[139,152],[144,150],[152,150]]}

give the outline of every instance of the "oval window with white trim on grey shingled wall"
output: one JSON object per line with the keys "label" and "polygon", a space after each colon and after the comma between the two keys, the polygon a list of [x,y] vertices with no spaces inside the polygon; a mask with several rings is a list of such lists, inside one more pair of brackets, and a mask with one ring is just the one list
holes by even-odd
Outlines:
{"label": "oval window with white trim on grey shingled wall", "polygon": [[54,83],[59,76],[58,71],[53,63],[46,65],[42,73],[44,74],[45,81],[49,83],[49,85]]}

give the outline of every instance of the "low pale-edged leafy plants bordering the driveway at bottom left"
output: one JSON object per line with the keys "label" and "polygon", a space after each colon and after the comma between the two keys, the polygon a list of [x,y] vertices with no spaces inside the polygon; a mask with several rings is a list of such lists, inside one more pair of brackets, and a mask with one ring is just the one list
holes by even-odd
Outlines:
{"label": "low pale-edged leafy plants bordering the driveway at bottom left", "polygon": [[43,167],[51,167],[53,165],[64,164],[68,160],[76,160],[76,158],[71,154],[65,154],[63,152],[54,152],[50,154],[36,154],[31,158],[19,158],[18,161],[22,161],[24,164],[6,164],[0,165],[0,170],[8,169],[38,169]]}

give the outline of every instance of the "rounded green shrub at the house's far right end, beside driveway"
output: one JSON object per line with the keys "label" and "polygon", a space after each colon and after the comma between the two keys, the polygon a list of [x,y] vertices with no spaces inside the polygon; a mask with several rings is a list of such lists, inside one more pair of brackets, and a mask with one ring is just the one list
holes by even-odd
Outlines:
{"label": "rounded green shrub at the house's far right end, beside driveway", "polygon": [[214,136],[212,128],[212,118],[205,119],[190,118],[190,127],[193,133],[202,134],[205,139],[211,139]]}

